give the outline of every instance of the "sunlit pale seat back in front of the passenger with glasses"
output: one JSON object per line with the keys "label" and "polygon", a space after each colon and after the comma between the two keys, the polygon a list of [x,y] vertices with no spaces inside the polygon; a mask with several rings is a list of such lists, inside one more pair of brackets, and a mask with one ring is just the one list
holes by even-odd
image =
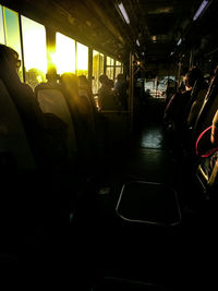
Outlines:
{"label": "sunlit pale seat back in front of the passenger with glasses", "polygon": [[68,125],[66,146],[69,157],[73,158],[77,153],[75,131],[68,104],[59,86],[38,85],[35,94],[44,113],[53,113]]}

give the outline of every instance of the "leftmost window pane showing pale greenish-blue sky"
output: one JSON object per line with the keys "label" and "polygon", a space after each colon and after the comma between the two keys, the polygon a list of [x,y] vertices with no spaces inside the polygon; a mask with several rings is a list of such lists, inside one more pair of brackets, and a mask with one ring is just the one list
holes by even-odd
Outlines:
{"label": "leftmost window pane showing pale greenish-blue sky", "polygon": [[[21,36],[19,26],[19,14],[8,8],[3,8],[5,45],[17,51],[20,59],[21,54]],[[19,70],[19,76],[23,81],[22,66]]]}

